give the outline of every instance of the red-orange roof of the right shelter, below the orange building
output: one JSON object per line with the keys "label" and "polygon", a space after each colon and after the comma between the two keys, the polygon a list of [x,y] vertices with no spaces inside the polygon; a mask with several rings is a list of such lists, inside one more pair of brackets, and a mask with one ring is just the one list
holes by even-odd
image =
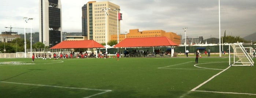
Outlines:
{"label": "red-orange roof of the right shelter, below the orange building", "polygon": [[167,37],[126,38],[114,47],[179,46]]}

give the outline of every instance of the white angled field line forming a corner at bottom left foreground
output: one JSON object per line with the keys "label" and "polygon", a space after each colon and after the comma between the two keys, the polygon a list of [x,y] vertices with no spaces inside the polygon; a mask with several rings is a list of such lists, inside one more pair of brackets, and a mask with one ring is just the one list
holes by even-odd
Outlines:
{"label": "white angled field line forming a corner at bottom left foreground", "polygon": [[32,85],[32,86],[46,86],[46,87],[58,87],[58,88],[80,89],[80,90],[95,90],[95,91],[103,91],[103,92],[101,92],[101,93],[97,93],[97,94],[90,95],[90,96],[88,96],[88,97],[83,97],[83,98],[89,98],[89,97],[93,97],[93,96],[96,96],[96,95],[100,95],[100,94],[104,94],[104,93],[107,93],[107,92],[112,91],[112,90],[101,90],[101,89],[90,89],[90,88],[76,88],[76,87],[49,86],[49,85],[41,85],[41,84],[15,83],[15,82],[3,82],[3,81],[0,81],[0,82],[2,82],[2,83],[12,83],[12,84]]}

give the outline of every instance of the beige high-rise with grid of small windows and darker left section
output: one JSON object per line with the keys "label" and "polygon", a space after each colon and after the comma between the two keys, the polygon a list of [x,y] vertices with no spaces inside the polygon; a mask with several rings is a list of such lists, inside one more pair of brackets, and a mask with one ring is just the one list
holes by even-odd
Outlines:
{"label": "beige high-rise with grid of small windows and darker left section", "polygon": [[[107,19],[105,10],[103,10],[106,8],[110,8],[106,10]],[[111,35],[117,35],[118,30],[120,33],[122,14],[119,14],[118,9],[120,9],[118,5],[109,1],[89,1],[82,7],[82,36],[87,36],[88,40],[93,39],[100,44],[105,43],[107,27],[107,42],[110,41]],[[107,23],[105,23],[106,20]]]}

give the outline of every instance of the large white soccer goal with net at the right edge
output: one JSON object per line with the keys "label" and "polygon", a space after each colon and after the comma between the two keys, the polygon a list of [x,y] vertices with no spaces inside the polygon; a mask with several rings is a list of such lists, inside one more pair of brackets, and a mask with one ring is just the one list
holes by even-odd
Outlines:
{"label": "large white soccer goal with net at the right edge", "polygon": [[[231,47],[230,47],[231,46]],[[233,55],[230,51],[233,50]],[[251,56],[246,52],[242,44],[229,44],[229,65],[230,66],[253,66]]]}

